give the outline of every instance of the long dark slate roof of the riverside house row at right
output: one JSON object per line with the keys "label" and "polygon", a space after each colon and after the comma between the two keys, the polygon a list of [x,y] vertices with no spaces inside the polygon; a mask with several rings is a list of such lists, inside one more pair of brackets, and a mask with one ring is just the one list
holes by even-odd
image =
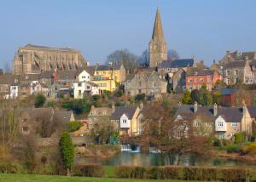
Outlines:
{"label": "long dark slate roof of the riverside house row at right", "polygon": [[209,121],[214,121],[221,116],[225,122],[241,122],[242,108],[241,107],[218,107],[218,113],[215,117],[213,115],[213,106],[198,105],[197,111],[194,113],[194,105],[178,105],[177,115],[185,116],[206,116]]}

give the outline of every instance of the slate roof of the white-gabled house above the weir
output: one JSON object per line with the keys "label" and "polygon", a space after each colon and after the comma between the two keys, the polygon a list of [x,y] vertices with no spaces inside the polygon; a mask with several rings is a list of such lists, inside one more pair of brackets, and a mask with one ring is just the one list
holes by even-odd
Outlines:
{"label": "slate roof of the white-gabled house above the weir", "polygon": [[122,115],[125,114],[126,117],[128,117],[128,119],[131,119],[134,116],[136,110],[137,110],[137,105],[118,106],[118,107],[115,107],[115,110],[111,118],[113,120],[119,120],[120,117],[122,117]]}

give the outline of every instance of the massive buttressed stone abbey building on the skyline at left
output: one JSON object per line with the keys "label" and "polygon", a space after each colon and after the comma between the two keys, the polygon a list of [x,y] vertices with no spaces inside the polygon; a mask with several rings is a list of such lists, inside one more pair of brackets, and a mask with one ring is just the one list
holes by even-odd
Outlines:
{"label": "massive buttressed stone abbey building on the skyline at left", "polygon": [[14,59],[14,74],[34,74],[42,71],[77,70],[88,65],[79,50],[27,44],[19,48]]}

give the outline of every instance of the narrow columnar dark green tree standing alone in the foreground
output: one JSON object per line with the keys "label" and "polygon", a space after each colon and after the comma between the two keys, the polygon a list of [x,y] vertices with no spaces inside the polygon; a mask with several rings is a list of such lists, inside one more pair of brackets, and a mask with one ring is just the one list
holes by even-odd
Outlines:
{"label": "narrow columnar dark green tree standing alone in the foreground", "polygon": [[67,169],[67,176],[70,176],[70,170],[73,168],[74,161],[74,147],[71,136],[67,132],[61,134],[60,151],[64,168]]}

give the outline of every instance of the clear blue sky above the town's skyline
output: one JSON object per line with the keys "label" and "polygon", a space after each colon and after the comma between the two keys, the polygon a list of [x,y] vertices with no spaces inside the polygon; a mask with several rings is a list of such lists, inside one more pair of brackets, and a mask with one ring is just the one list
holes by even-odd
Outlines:
{"label": "clear blue sky above the town's skyline", "polygon": [[90,65],[148,48],[157,7],[169,49],[207,65],[256,50],[255,0],[2,0],[0,68],[27,43],[79,49]]}

